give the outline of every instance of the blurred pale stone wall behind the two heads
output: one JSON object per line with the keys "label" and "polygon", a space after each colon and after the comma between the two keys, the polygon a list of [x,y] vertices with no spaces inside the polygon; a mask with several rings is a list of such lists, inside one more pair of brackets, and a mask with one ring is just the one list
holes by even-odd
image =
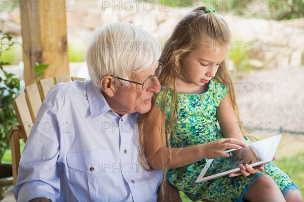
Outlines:
{"label": "blurred pale stone wall behind the two heads", "polygon": [[[1,29],[20,40],[20,9],[1,14]],[[191,8],[170,8],[150,2],[69,1],[66,4],[68,41],[83,50],[91,30],[102,24],[128,22],[138,25],[164,42],[174,25]],[[280,68],[303,65],[303,19],[274,21],[222,16],[233,33],[232,45],[247,51],[254,67]],[[240,50],[239,50],[240,48]],[[230,47],[228,51],[231,51]]]}

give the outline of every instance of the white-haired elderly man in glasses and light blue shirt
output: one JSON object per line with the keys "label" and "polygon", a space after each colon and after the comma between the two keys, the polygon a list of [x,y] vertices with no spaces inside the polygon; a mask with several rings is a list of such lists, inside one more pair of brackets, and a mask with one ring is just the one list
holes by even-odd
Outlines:
{"label": "white-haired elderly man in glasses and light blue shirt", "polygon": [[160,48],[144,30],[113,23],[94,31],[91,80],[55,85],[25,144],[18,201],[156,201],[161,172],[140,163],[138,113],[159,92]]}

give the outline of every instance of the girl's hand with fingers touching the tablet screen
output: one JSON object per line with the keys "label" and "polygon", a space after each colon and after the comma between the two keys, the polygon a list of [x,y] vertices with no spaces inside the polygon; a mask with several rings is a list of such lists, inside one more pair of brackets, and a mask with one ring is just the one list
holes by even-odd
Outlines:
{"label": "girl's hand with fingers touching the tablet screen", "polygon": [[231,148],[240,148],[246,145],[245,142],[235,138],[222,138],[213,142],[201,144],[203,148],[203,156],[206,159],[216,159],[218,157],[229,157],[224,150]]}

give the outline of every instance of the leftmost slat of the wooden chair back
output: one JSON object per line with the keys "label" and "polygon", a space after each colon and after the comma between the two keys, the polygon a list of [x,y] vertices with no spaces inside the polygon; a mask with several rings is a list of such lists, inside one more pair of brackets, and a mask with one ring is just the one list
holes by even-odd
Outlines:
{"label": "leftmost slat of the wooden chair back", "polygon": [[13,101],[13,106],[17,116],[17,120],[20,124],[22,137],[24,140],[27,140],[27,137],[30,133],[30,129],[33,125],[30,112],[27,106],[25,93],[21,92]]}

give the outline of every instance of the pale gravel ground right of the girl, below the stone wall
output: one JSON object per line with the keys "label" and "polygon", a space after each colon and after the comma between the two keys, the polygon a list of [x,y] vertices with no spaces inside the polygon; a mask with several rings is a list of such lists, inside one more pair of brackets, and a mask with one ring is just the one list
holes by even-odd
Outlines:
{"label": "pale gravel ground right of the girl, below the stone wall", "polygon": [[304,68],[260,70],[235,81],[241,120],[261,133],[304,132]]}

